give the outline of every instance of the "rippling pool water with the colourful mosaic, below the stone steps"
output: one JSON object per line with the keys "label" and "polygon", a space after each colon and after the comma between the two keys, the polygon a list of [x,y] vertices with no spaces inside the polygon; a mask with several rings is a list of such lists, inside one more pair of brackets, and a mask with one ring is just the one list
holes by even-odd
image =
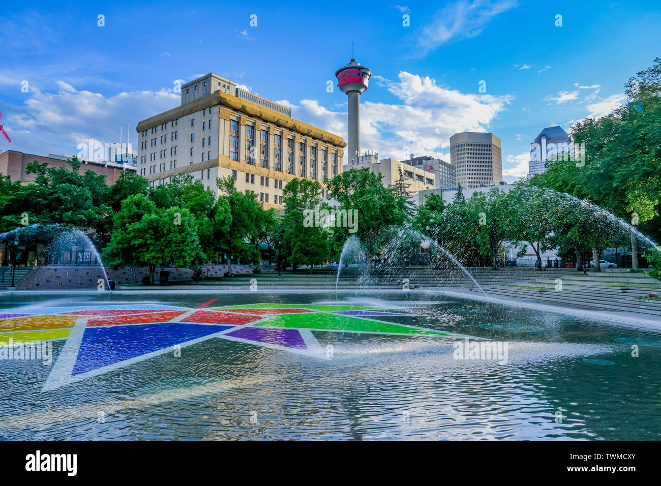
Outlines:
{"label": "rippling pool water with the colourful mosaic, below the stone steps", "polygon": [[[417,292],[13,294],[0,350],[10,338],[52,343],[52,360],[5,346],[5,439],[661,438],[660,333],[524,307]],[[491,341],[506,360],[455,359]]]}

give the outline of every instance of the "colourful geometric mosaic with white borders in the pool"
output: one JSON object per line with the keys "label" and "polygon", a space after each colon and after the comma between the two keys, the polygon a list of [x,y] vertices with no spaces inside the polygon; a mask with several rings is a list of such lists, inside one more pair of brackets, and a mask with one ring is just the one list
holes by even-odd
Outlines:
{"label": "colourful geometric mosaic with white borders in the pool", "polygon": [[[99,305],[22,307],[0,312],[0,345],[64,341],[44,390],[68,385],[217,338],[327,358],[311,331],[457,337],[370,317],[410,315],[397,307],[249,304],[207,307]],[[203,308],[204,307],[204,308]]]}

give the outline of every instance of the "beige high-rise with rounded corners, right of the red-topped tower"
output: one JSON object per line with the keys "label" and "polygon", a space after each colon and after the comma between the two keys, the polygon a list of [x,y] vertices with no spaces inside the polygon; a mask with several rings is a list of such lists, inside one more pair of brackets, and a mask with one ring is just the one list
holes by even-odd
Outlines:
{"label": "beige high-rise with rounded corners, right of the red-topped tower", "polygon": [[500,138],[483,132],[454,134],[450,137],[450,163],[459,186],[498,185],[502,181]]}

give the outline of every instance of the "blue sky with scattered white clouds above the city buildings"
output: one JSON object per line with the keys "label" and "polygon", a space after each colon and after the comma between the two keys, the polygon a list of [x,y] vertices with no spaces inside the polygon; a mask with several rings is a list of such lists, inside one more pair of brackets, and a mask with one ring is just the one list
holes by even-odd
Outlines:
{"label": "blue sky with scattered white clouds above the city buildings", "polygon": [[180,5],[3,9],[0,123],[13,143],[3,138],[0,150],[73,154],[89,138],[118,142],[120,127],[126,142],[129,124],[135,146],[139,120],[179,104],[176,80],[211,71],[346,139],[334,71],[355,40],[356,58],[373,72],[361,99],[362,149],[449,161],[451,134],[490,131],[502,140],[504,179],[514,181],[542,128],[568,131],[607,114],[625,101],[627,79],[661,56],[658,1],[396,0],[364,2],[353,14],[356,2]]}

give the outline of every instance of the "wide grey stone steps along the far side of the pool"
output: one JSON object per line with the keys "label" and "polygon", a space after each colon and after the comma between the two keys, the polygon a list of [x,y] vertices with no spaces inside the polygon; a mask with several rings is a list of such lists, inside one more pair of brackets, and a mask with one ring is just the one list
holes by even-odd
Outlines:
{"label": "wide grey stone steps along the far side of the pool", "polygon": [[[338,290],[436,288],[485,292],[487,296],[512,298],[550,305],[571,305],[605,311],[633,311],[661,315],[661,301],[639,300],[637,296],[661,295],[661,282],[645,273],[626,270],[588,272],[584,276],[572,268],[389,268],[373,272],[368,278],[356,268],[336,273],[299,274],[277,272],[247,274],[194,282],[222,290]],[[408,280],[408,282],[407,282]],[[193,283],[193,282],[188,282]],[[337,287],[336,287],[337,285]]]}

